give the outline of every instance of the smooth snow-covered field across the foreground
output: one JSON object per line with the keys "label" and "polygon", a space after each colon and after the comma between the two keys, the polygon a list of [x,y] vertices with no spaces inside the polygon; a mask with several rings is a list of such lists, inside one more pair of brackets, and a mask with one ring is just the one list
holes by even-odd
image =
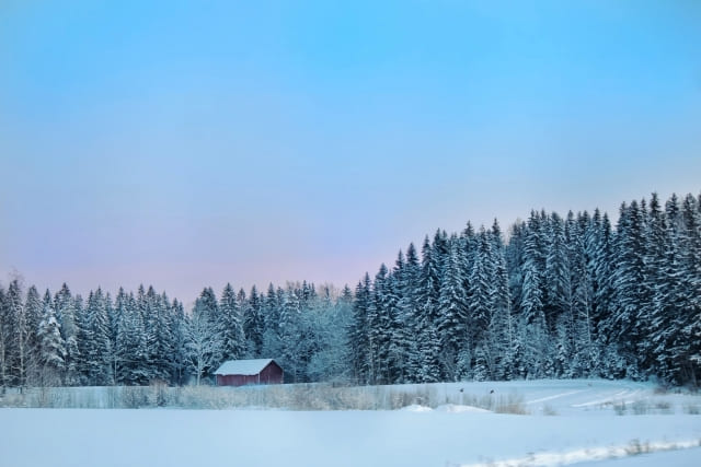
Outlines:
{"label": "smooth snow-covered field across the foreground", "polygon": [[509,395],[529,415],[417,404],[364,411],[0,409],[0,465],[701,465],[698,395],[606,381],[455,383],[434,385],[432,394]]}

